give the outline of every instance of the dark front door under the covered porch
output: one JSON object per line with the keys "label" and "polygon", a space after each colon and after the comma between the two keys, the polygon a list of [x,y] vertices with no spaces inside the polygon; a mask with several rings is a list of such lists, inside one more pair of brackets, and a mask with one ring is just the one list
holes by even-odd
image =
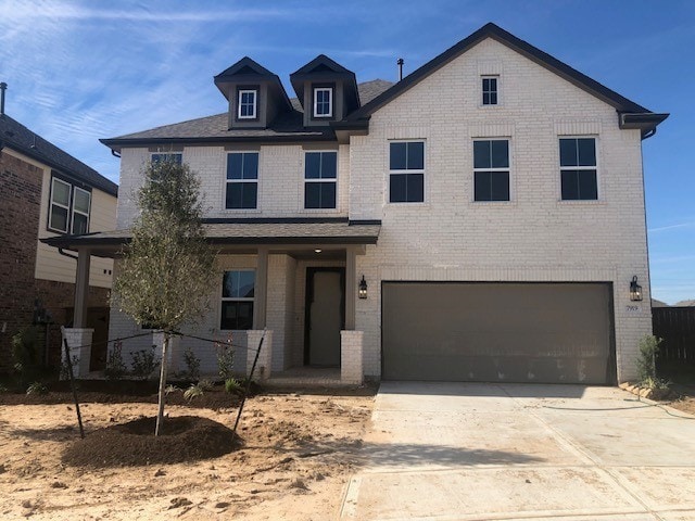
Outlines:
{"label": "dark front door under the covered porch", "polygon": [[340,366],[345,323],[345,268],[307,268],[304,364]]}

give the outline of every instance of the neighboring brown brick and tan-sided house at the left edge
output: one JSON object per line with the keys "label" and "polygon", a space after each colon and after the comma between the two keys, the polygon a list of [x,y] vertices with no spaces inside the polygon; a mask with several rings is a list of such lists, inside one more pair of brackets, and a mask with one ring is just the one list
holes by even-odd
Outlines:
{"label": "neighboring brown brick and tan-sided house at the left edge", "polygon": [[[4,87],[4,86],[3,86]],[[3,89],[4,93],[4,89]],[[43,360],[61,358],[60,326],[73,323],[75,254],[39,240],[111,230],[117,187],[0,111],[0,371],[12,367],[12,335],[36,325]],[[113,260],[94,260],[87,319],[105,340]],[[96,367],[105,344],[93,357]]]}

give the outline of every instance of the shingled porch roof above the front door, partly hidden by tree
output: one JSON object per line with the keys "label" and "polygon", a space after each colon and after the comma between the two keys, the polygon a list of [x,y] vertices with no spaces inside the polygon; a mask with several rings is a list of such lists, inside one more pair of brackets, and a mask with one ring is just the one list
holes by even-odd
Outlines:
{"label": "shingled porch roof above the front door, partly hidden by tree", "polygon": [[[211,219],[212,220],[212,219]],[[380,221],[350,221],[348,219],[219,219],[203,225],[205,237],[222,250],[247,246],[321,247],[376,244]],[[90,250],[92,255],[116,257],[124,244],[132,239],[130,230],[113,230],[84,236],[56,236],[41,239],[48,245],[63,250]],[[275,247],[277,246],[277,247]]]}

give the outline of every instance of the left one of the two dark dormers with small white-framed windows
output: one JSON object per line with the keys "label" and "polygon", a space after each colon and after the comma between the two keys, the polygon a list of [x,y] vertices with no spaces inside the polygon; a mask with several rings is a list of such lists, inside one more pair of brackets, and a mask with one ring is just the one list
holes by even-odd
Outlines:
{"label": "left one of the two dark dormers with small white-framed windows", "polygon": [[266,128],[292,110],[280,78],[249,56],[215,76],[215,85],[229,101],[230,130]]}

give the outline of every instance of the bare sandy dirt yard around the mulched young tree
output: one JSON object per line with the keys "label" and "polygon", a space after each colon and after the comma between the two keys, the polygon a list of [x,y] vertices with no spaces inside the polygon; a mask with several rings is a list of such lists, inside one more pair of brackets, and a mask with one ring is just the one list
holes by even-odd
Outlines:
{"label": "bare sandy dirt yard around the mulched young tree", "polygon": [[[348,479],[361,463],[374,402],[364,390],[352,395],[270,391],[247,402],[241,447],[229,454],[94,469],[63,462],[79,431],[74,406],[50,403],[60,402],[51,394],[29,397],[42,404],[15,404],[7,394],[0,399],[2,520],[336,519]],[[87,436],[156,414],[154,403],[130,398],[81,404]],[[237,408],[173,405],[167,412],[231,428]]]}

